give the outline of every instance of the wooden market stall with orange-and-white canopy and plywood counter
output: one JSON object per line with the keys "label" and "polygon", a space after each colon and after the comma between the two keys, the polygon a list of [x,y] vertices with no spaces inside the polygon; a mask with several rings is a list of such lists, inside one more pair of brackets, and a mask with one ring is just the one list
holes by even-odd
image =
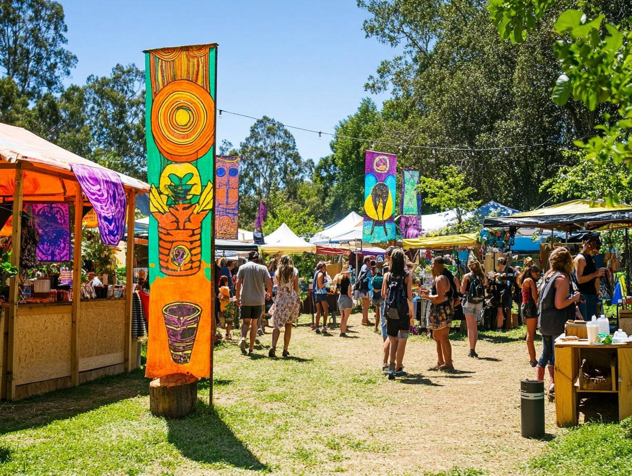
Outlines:
{"label": "wooden market stall with orange-and-white canopy and plywood counter", "polygon": [[[0,124],[0,202],[5,211],[11,210],[13,221],[11,264],[20,264],[25,204],[68,202],[75,211],[90,205],[76,174],[82,167],[118,177],[128,228],[133,229],[135,196],[149,190],[147,183],[113,173],[27,130]],[[97,192],[100,186],[95,183]],[[71,258],[76,264],[82,261],[82,213],[74,215]],[[126,244],[127,283],[132,283],[132,233]],[[75,286],[81,283],[81,265],[73,266],[72,281]],[[75,288],[72,302],[20,303],[18,276],[9,284],[8,303],[0,316],[0,398],[18,400],[136,367],[131,292],[123,299],[81,300]]]}

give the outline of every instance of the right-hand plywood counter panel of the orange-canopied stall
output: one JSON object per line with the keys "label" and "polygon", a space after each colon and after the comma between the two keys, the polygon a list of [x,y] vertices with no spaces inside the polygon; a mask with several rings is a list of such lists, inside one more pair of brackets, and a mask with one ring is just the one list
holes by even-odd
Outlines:
{"label": "right-hand plywood counter panel of the orange-canopied stall", "polygon": [[79,372],[125,362],[125,300],[82,301]]}

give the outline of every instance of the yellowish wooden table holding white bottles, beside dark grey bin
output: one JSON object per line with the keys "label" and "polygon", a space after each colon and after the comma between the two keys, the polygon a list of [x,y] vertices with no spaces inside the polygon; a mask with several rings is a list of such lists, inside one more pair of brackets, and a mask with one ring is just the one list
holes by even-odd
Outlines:
{"label": "yellowish wooden table holding white bottles, beside dark grey bin", "polygon": [[[575,382],[580,355],[612,352],[616,358],[616,390],[580,390]],[[555,408],[558,426],[577,425],[578,393],[617,393],[619,420],[632,415],[632,344],[589,345],[587,339],[555,343]]]}

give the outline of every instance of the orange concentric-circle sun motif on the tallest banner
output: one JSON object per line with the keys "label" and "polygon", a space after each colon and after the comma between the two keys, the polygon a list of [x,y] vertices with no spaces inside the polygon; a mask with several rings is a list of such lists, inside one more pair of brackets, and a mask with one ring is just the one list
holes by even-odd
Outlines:
{"label": "orange concentric-circle sun motif on the tallest banner", "polygon": [[215,102],[202,86],[176,80],[162,88],[152,104],[152,133],[162,155],[191,162],[215,142]]}

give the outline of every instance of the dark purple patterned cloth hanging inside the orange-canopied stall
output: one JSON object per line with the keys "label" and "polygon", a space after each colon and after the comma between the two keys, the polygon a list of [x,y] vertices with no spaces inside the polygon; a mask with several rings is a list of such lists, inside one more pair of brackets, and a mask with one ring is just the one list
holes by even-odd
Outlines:
{"label": "dark purple patterned cloth hanging inside the orange-canopied stall", "polygon": [[67,203],[33,204],[35,228],[39,231],[37,260],[70,261],[70,210]]}

